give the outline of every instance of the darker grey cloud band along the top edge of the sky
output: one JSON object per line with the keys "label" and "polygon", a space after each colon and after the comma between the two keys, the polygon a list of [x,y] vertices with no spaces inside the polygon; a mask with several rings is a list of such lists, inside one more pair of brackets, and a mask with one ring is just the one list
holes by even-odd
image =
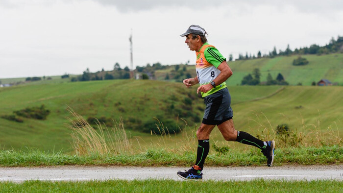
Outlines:
{"label": "darker grey cloud band along the top edge of the sky", "polygon": [[208,8],[239,7],[245,12],[246,8],[256,6],[271,6],[277,9],[294,7],[304,13],[330,13],[343,11],[343,0],[0,0],[0,7],[15,8],[26,5],[49,6],[57,2],[73,3],[94,1],[103,6],[115,6],[121,12],[146,11],[157,7],[187,7],[206,13]]}

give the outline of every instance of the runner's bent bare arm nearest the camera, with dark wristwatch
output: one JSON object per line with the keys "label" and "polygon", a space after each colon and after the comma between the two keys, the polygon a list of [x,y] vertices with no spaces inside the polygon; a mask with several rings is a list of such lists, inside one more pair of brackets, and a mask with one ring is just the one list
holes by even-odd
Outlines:
{"label": "runner's bent bare arm nearest the camera, with dark wristwatch", "polygon": [[[213,80],[216,83],[216,85],[220,85],[233,74],[230,67],[227,65],[226,61],[223,61],[218,66],[218,70],[220,70],[221,73]],[[199,86],[199,88],[197,88],[196,93],[207,93],[211,89],[213,89],[213,86],[211,84],[201,85]]]}

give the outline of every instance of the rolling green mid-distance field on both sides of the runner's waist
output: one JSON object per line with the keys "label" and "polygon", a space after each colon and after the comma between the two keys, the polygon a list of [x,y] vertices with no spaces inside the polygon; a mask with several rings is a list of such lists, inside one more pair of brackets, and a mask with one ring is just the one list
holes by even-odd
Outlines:
{"label": "rolling green mid-distance field on both sides of the runner's waist", "polygon": [[[229,86],[229,90],[237,130],[256,135],[264,129],[274,130],[277,125],[287,123],[294,131],[308,133],[329,128],[343,134],[342,87]],[[187,106],[184,100],[189,97],[192,97],[192,104]],[[70,117],[68,106],[85,119],[105,116],[119,120],[123,117],[128,138],[133,144],[147,147],[157,137],[139,132],[140,127],[133,129],[130,121],[144,123],[153,117],[176,121],[179,117],[178,125],[185,128],[180,118],[185,118],[185,113],[190,112],[201,118],[204,108],[203,100],[196,96],[196,87],[187,89],[181,83],[152,80],[22,85],[1,88],[0,98],[0,116],[42,104],[51,112],[45,121],[24,118],[24,123],[18,123],[0,119],[2,149],[37,147],[71,151],[71,130],[66,125],[69,123],[66,117]],[[174,105],[173,111],[170,111],[171,104]],[[200,122],[192,117],[185,118],[185,121],[189,123],[186,127],[189,133],[194,133],[196,124]],[[211,139],[224,143],[216,129]],[[182,140],[181,135],[172,134],[174,145]],[[229,144],[240,146],[238,143]]]}

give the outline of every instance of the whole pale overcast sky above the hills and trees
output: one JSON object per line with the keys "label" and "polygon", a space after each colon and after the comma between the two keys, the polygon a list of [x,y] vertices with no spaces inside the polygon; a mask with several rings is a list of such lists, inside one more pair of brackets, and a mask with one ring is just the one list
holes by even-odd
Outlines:
{"label": "whole pale overcast sky above the hills and trees", "polygon": [[[210,4],[209,4],[210,3]],[[191,24],[228,57],[343,35],[342,0],[0,0],[0,79],[195,63]]]}

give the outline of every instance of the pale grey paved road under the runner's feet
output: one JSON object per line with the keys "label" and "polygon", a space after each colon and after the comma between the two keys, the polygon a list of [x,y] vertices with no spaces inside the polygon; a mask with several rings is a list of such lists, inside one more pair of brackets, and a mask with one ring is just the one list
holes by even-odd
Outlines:
{"label": "pale grey paved road under the runner's feet", "polygon": [[[183,167],[119,167],[119,166],[57,166],[34,168],[0,168],[0,181],[23,182],[25,180],[81,181],[108,179],[172,179],[182,180],[177,171]],[[203,180],[274,180],[343,181],[343,165],[282,166],[282,167],[206,167]]]}

